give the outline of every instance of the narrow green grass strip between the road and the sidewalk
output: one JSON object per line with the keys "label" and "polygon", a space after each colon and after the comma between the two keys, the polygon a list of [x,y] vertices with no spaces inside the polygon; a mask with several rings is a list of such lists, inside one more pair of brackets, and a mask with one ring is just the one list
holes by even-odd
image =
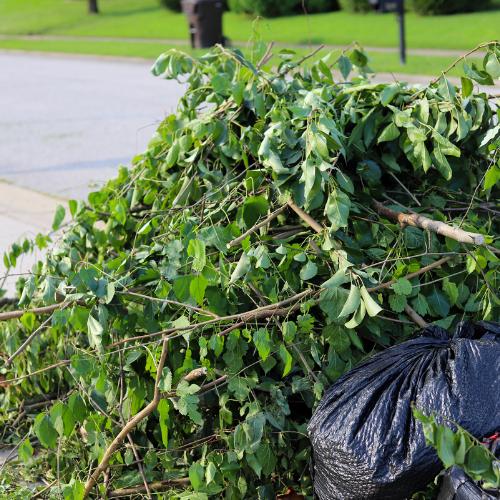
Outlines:
{"label": "narrow green grass strip between the road and the sidewalk", "polygon": [[[94,41],[78,41],[78,40],[24,40],[17,38],[0,39],[0,49],[19,49],[19,50],[38,50],[43,52],[65,52],[73,54],[99,54],[112,56],[127,56],[127,57],[143,57],[148,59],[156,59],[158,55],[170,48],[176,48],[190,54],[202,55],[207,52],[207,49],[198,49],[193,51],[188,45],[168,45],[161,43],[148,42],[94,42]],[[279,51],[279,49],[277,49]],[[277,52],[275,51],[275,52]],[[308,49],[297,49],[297,54],[302,56],[309,52]],[[318,52],[318,57],[324,57],[329,51],[322,49]],[[338,51],[336,52],[338,53]],[[424,57],[412,56],[407,57],[406,66],[399,65],[398,54],[388,54],[384,52],[370,52],[370,57],[374,63],[370,64],[372,69],[377,73],[393,72],[393,73],[410,73],[423,75],[438,75],[442,70],[446,69],[454,61],[455,58],[450,57]],[[271,60],[271,64],[277,64],[278,58],[275,56]],[[458,70],[450,72],[452,76],[459,76]]]}

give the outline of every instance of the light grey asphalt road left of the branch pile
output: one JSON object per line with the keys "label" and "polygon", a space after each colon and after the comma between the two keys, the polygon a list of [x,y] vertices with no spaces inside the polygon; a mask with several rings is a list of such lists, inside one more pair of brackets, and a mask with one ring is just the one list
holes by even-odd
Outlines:
{"label": "light grey asphalt road left of the branch pile", "polygon": [[151,63],[0,53],[0,179],[86,197],[144,151],[184,87]]}

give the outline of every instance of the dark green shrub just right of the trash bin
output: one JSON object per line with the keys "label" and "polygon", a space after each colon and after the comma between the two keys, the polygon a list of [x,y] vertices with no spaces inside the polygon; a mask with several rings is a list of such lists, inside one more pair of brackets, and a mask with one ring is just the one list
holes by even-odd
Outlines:
{"label": "dark green shrub just right of the trash bin", "polygon": [[[306,0],[305,7],[309,14],[338,10],[337,0]],[[303,13],[302,0],[229,0],[229,8],[263,17],[278,17]]]}

